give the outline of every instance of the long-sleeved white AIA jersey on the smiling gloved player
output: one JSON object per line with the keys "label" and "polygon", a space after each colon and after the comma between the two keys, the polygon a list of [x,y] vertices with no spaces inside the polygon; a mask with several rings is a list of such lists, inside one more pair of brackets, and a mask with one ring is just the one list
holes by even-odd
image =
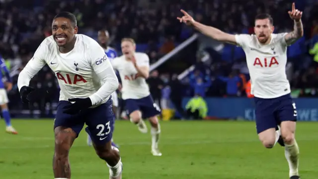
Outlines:
{"label": "long-sleeved white AIA jersey on the smiling gloved player", "polygon": [[[95,40],[82,34],[76,34],[76,38],[74,48],[68,53],[59,51],[53,36],[43,40],[19,75],[19,89],[28,86],[31,78],[48,64],[58,79],[61,89],[60,100],[90,97],[93,106],[106,102],[109,95],[118,88],[118,84],[114,89],[101,87],[106,80],[108,86],[112,87],[111,84],[116,86],[118,80],[114,70],[103,48]],[[106,69],[108,69],[107,74],[104,73]]]}

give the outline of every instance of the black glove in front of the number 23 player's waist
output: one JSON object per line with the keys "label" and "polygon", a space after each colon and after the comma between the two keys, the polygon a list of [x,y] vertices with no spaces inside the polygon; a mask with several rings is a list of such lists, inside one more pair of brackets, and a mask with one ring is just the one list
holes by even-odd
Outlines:
{"label": "black glove in front of the number 23 player's waist", "polygon": [[73,98],[69,99],[70,102],[74,102],[73,104],[69,104],[63,109],[65,109],[65,113],[67,114],[76,114],[83,109],[87,109],[92,105],[91,100],[89,97],[86,98]]}

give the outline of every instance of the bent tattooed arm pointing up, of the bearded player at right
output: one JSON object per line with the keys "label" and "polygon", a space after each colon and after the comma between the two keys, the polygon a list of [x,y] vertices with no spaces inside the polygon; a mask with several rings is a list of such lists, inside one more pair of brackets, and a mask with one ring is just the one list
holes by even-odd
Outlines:
{"label": "bent tattooed arm pointing up, of the bearded player at right", "polygon": [[292,11],[288,11],[291,19],[294,20],[294,30],[285,35],[287,45],[291,45],[304,35],[302,14],[303,12],[295,8],[295,2],[292,5]]}

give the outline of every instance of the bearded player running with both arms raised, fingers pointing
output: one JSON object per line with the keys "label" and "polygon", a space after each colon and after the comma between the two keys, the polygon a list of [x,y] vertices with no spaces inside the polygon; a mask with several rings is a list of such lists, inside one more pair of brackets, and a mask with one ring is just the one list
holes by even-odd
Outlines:
{"label": "bearded player running with both arms raised, fingers pointing", "polygon": [[191,25],[201,33],[222,42],[239,45],[246,54],[251,78],[251,94],[255,100],[256,129],[259,140],[266,148],[272,148],[278,140],[275,128],[280,125],[285,144],[285,157],[289,165],[290,179],[300,179],[298,174],[299,148],[295,140],[297,111],[290,95],[286,77],[287,46],[303,36],[302,12],[292,5],[289,11],[294,20],[294,30],[273,34],[273,19],[268,14],[255,17],[255,35],[232,35],[217,28],[195,21],[181,10],[180,22]]}

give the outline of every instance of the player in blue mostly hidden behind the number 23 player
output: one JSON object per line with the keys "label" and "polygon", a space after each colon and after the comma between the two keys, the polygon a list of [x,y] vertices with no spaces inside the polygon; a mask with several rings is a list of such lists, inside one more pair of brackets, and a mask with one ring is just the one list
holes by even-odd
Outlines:
{"label": "player in blue mostly hidden behind the number 23 player", "polygon": [[[108,40],[109,40],[108,31],[107,30],[99,30],[98,31],[98,42],[99,42],[99,45],[104,49],[105,54],[107,55],[108,59],[110,61],[112,61],[114,58],[117,57],[117,52],[116,52],[115,49],[113,49],[113,48],[108,46]],[[117,97],[116,90],[111,94],[111,99],[113,100],[113,112],[114,112],[114,116],[116,118],[117,107],[118,107],[118,97]],[[88,146],[92,145],[91,139],[90,139],[88,134],[87,134],[87,141],[86,142],[87,142]],[[118,148],[118,145],[116,145],[113,142],[113,139],[111,139],[111,145],[116,147],[116,148]]]}

